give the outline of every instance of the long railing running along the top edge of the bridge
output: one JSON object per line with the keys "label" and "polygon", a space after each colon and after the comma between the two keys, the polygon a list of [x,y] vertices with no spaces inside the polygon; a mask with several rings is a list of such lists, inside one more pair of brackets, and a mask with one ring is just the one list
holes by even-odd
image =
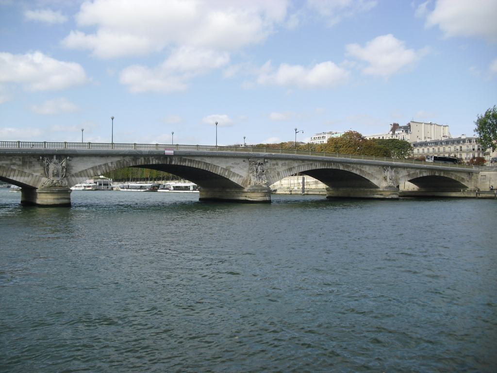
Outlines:
{"label": "long railing running along the top edge of the bridge", "polygon": [[[386,157],[371,157],[355,154],[338,154],[315,152],[312,150],[295,150],[295,149],[274,149],[274,148],[257,148],[252,146],[211,146],[211,145],[179,145],[179,144],[120,144],[120,143],[96,143],[96,142],[34,142],[34,141],[0,141],[0,149],[93,149],[93,150],[184,150],[184,151],[207,151],[207,152],[246,152],[246,153],[266,153],[266,154],[295,154],[308,155],[314,157],[332,157],[347,159],[363,159],[371,161],[384,161],[405,163],[414,165],[426,165],[424,161],[412,159],[397,159]],[[452,165],[446,163],[430,163],[432,166],[454,167],[454,168],[473,168],[466,165]]]}

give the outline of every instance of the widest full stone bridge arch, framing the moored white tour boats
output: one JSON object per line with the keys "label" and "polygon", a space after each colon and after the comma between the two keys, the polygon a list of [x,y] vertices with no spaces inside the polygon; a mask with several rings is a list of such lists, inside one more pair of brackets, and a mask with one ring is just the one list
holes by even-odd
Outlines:
{"label": "widest full stone bridge arch, framing the moored white tour boats", "polygon": [[182,157],[126,157],[74,173],[68,177],[68,184],[72,187],[84,180],[127,167],[167,172],[204,188],[243,189],[246,182],[242,175],[208,162]]}

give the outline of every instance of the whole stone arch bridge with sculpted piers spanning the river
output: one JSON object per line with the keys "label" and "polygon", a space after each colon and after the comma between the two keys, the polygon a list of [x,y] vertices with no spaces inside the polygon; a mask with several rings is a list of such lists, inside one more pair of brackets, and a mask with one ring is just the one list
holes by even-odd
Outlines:
{"label": "whole stone arch bridge with sculpted piers spanning the river", "polygon": [[[488,169],[249,147],[96,144],[107,148],[86,149],[95,144],[41,147],[51,144],[26,143],[36,147],[23,148],[3,143],[0,180],[21,187],[21,202],[35,205],[70,205],[70,187],[126,167],[164,171],[190,180],[200,187],[201,200],[259,203],[271,201],[270,185],[298,173],[324,183],[329,198],[396,199],[402,193],[468,197],[480,189],[481,169]],[[80,148],[71,148],[76,145]],[[148,149],[135,149],[142,145]],[[406,183],[412,186],[401,191]]]}

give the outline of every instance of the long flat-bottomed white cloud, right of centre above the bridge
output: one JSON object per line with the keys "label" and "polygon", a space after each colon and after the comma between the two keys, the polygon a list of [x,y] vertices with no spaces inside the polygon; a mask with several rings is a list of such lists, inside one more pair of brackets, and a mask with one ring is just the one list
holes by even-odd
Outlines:
{"label": "long flat-bottomed white cloud, right of centre above the bridge", "polygon": [[272,70],[271,61],[268,61],[262,66],[257,83],[263,86],[295,86],[303,89],[329,88],[345,83],[350,74],[331,61],[309,68],[281,64],[278,70]]}

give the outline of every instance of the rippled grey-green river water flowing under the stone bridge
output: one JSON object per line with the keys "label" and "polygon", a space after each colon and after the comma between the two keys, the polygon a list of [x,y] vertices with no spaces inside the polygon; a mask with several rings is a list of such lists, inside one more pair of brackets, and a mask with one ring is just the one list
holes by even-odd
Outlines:
{"label": "rippled grey-green river water flowing under the stone bridge", "polygon": [[1,372],[496,372],[497,202],[0,190]]}

